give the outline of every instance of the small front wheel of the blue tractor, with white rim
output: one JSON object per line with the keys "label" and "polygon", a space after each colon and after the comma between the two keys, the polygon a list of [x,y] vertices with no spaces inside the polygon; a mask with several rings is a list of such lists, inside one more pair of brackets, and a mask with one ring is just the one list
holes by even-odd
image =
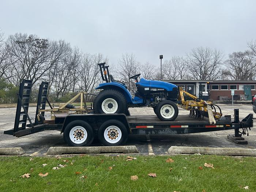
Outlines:
{"label": "small front wheel of the blue tractor, with white rim", "polygon": [[173,101],[161,101],[157,105],[156,114],[162,121],[173,121],[178,116],[178,107]]}

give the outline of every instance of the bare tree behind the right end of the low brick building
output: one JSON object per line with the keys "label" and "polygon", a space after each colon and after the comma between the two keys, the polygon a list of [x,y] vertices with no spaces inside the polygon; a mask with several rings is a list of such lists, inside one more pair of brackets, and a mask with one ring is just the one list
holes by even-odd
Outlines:
{"label": "bare tree behind the right end of the low brick building", "polygon": [[226,65],[223,74],[233,80],[252,80],[256,75],[256,63],[249,51],[231,53]]}

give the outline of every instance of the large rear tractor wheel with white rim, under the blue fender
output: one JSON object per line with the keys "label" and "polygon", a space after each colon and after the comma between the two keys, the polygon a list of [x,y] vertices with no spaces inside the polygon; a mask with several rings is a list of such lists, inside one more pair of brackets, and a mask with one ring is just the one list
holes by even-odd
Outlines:
{"label": "large rear tractor wheel with white rim, under the blue fender", "polygon": [[124,95],[114,89],[106,89],[94,98],[93,110],[94,113],[127,113],[127,101]]}

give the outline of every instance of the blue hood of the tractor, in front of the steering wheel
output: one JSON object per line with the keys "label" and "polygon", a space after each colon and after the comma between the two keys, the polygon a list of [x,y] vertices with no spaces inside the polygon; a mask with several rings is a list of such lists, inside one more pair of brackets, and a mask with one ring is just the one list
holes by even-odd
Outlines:
{"label": "blue hood of the tractor, in front of the steering wheel", "polygon": [[174,87],[177,88],[177,86],[172,83],[157,80],[146,80],[144,78],[141,78],[140,81],[136,84],[140,84],[143,87],[161,88],[165,89],[166,91],[172,91]]}

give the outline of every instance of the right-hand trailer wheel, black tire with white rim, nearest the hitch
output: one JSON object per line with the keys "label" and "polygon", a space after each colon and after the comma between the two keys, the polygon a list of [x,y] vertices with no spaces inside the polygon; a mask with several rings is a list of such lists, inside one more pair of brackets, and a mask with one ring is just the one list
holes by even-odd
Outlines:
{"label": "right-hand trailer wheel, black tire with white rim, nearest the hitch", "polygon": [[104,146],[118,146],[128,139],[128,130],[118,120],[108,120],[99,127],[98,138]]}

